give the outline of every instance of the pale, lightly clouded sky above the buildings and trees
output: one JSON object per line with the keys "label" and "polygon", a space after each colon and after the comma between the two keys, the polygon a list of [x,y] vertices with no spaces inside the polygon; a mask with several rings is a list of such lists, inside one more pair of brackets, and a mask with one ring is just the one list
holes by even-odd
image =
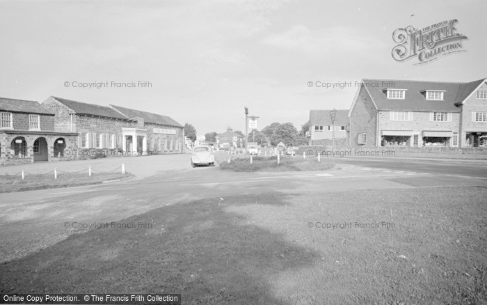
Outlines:
{"label": "pale, lightly clouded sky above the buildings and trees", "polygon": [[[301,130],[311,109],[349,109],[360,79],[484,79],[486,11],[485,0],[0,1],[0,97],[115,104],[198,134],[244,131],[248,107],[259,130]],[[392,58],[395,30],[450,19],[463,52]]]}

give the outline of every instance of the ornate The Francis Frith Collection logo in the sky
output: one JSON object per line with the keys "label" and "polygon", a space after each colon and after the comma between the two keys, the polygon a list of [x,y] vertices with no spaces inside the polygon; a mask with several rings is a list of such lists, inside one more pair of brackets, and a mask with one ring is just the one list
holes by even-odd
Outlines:
{"label": "ornate The Francis Frith Collection logo in the sky", "polygon": [[399,45],[392,49],[392,58],[396,61],[406,61],[417,57],[419,63],[415,65],[420,65],[447,54],[465,52],[462,40],[468,38],[457,32],[456,22],[457,19],[445,20],[420,30],[413,26],[397,29],[392,33],[392,39]]}

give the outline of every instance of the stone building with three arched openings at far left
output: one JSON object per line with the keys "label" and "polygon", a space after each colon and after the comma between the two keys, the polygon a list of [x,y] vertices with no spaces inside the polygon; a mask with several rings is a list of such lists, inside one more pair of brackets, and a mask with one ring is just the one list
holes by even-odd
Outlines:
{"label": "stone building with three arched openings at far left", "polygon": [[0,164],[22,164],[69,158],[77,134],[58,131],[54,113],[38,102],[0,98]]}

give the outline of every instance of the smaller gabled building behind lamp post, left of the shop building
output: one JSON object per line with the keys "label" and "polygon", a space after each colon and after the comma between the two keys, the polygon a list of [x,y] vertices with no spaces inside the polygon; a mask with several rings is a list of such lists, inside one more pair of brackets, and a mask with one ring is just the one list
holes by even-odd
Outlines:
{"label": "smaller gabled building behind lamp post, left of the shop building", "polygon": [[[331,110],[310,110],[310,145],[330,145],[333,139]],[[349,136],[349,111],[337,110],[335,115],[335,143],[346,145]]]}

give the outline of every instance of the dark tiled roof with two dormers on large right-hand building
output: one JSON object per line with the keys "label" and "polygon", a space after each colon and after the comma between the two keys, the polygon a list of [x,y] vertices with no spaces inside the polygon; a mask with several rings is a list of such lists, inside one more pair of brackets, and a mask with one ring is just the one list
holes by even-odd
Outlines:
{"label": "dark tiled roof with two dormers on large right-hand building", "polygon": [[[448,111],[460,112],[455,104],[463,102],[484,79],[470,83],[454,83],[442,81],[401,81],[391,79],[363,79],[378,110],[385,111]],[[367,84],[393,84],[388,87],[367,86]],[[406,89],[404,100],[387,98],[386,88]],[[443,100],[426,100],[424,91],[445,91]]]}

